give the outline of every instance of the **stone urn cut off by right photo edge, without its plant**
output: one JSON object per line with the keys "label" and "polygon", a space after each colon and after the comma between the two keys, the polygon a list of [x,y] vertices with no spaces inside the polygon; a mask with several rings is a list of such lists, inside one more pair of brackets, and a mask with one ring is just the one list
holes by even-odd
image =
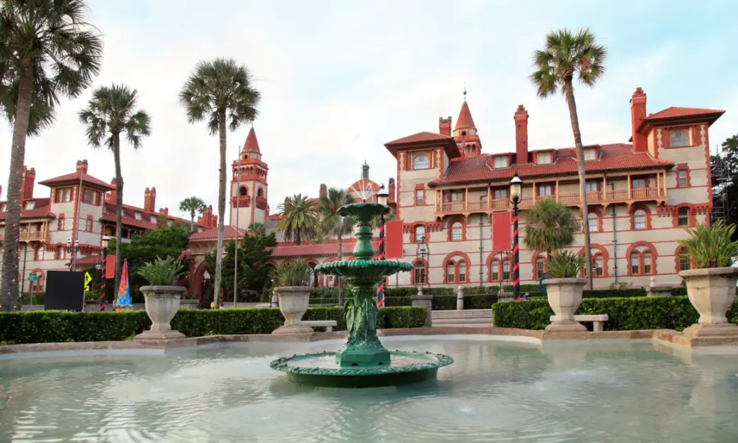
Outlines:
{"label": "stone urn cut off by right photo edge, without its plant", "polygon": [[738,337],[738,325],[728,323],[725,317],[736,298],[738,268],[689,269],[679,275],[686,282],[689,301],[700,313],[698,323],[685,329],[684,334]]}

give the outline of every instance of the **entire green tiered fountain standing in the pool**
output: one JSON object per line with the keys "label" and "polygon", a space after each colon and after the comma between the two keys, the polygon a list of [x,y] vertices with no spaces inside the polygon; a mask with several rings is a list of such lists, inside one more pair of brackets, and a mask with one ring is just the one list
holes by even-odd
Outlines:
{"label": "entire green tiered fountain standing in the pool", "polygon": [[356,220],[354,261],[320,264],[315,272],[345,277],[353,292],[345,303],[348,341],[337,352],[294,355],[272,362],[300,385],[330,388],[371,388],[403,385],[435,379],[438,368],[454,362],[452,357],[431,352],[387,351],[376,336],[376,286],[384,278],[413,265],[396,260],[373,260],[371,221],[390,208],[379,203],[354,203],[339,215]]}

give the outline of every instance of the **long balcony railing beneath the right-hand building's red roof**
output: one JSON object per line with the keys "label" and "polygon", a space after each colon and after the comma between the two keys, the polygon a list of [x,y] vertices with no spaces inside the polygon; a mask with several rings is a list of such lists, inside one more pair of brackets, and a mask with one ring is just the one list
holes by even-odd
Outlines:
{"label": "long balcony railing beneath the right-hand building's red roof", "polygon": [[[540,199],[556,199],[556,196],[537,196],[524,198],[520,201],[520,209],[527,209],[536,204]],[[587,205],[611,204],[633,202],[638,200],[666,199],[666,192],[661,188],[638,188],[622,190],[603,190],[587,193]],[[559,203],[565,206],[581,205],[582,198],[576,194],[559,194]],[[494,212],[512,210],[512,202],[509,199],[472,200],[471,202],[442,202],[436,203],[436,213],[469,213],[469,212]]]}

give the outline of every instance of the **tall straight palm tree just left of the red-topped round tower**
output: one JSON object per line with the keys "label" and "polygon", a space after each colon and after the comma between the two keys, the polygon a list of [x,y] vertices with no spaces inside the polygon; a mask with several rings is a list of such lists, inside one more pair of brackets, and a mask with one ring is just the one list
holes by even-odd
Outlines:
{"label": "tall straight palm tree just left of the red-topped round tower", "polygon": [[252,86],[246,66],[230,58],[201,61],[179,92],[179,103],[187,111],[190,123],[207,120],[210,135],[218,134],[220,176],[218,186],[218,247],[215,253],[215,306],[220,306],[221,264],[223,261],[223,226],[226,213],[226,136],[227,130],[253,122],[261,94]]}

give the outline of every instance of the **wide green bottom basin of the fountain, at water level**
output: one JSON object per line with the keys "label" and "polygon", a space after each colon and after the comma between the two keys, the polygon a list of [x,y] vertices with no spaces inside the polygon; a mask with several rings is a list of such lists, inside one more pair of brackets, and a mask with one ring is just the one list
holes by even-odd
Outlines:
{"label": "wide green bottom basin of the fountain, at water level", "polygon": [[454,363],[444,354],[391,351],[389,365],[341,367],[335,352],[303,354],[274,360],[272,369],[287,373],[287,380],[321,388],[380,388],[435,379],[438,368]]}

